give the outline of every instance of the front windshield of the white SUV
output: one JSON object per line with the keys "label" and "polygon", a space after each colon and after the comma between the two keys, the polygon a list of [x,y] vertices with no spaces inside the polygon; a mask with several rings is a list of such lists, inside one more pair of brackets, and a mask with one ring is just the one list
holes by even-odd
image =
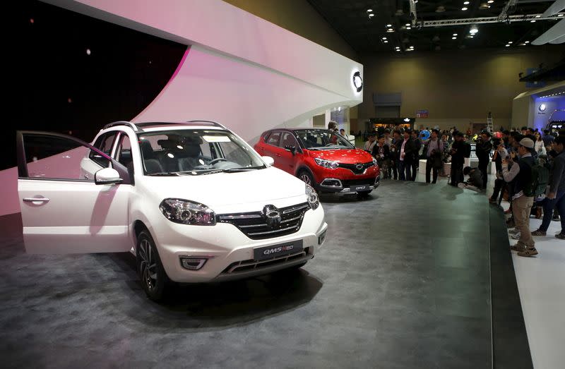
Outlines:
{"label": "front windshield of the white SUV", "polygon": [[146,175],[198,175],[263,169],[261,158],[228,131],[175,130],[138,134]]}

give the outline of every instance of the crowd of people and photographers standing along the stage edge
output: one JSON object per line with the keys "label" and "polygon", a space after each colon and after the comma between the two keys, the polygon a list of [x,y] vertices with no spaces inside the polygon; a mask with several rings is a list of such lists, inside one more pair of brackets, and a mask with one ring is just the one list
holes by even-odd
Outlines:
{"label": "crowd of people and photographers standing along the stage edge", "polygon": [[[555,237],[565,240],[565,131],[541,133],[523,127],[472,135],[455,127],[418,131],[385,126],[366,136],[364,150],[376,158],[383,179],[415,181],[420,159],[425,159],[426,182],[436,183],[444,163],[451,162],[446,173],[451,186],[486,192],[489,162],[493,162],[496,174],[489,202],[500,205],[503,198],[510,202],[507,226],[511,238],[518,240],[511,249],[520,256],[537,255],[534,238],[547,235],[552,219],[561,220]],[[477,168],[464,167],[471,143],[475,143]],[[538,218],[543,214],[535,231],[530,230],[530,214]]]}

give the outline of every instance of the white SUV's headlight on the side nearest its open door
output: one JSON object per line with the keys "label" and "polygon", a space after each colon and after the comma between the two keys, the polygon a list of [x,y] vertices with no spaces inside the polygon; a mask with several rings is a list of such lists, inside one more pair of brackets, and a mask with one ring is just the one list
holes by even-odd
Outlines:
{"label": "white SUV's headlight on the side nearest its open door", "polygon": [[166,198],[162,200],[159,209],[171,222],[196,226],[213,226],[216,224],[213,210],[198,202]]}

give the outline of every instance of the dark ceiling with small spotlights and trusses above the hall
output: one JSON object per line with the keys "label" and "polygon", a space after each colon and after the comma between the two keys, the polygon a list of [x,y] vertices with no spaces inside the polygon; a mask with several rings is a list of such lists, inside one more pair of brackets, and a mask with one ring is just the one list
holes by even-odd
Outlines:
{"label": "dark ceiling with small spotlights and trusses above the hall", "polygon": [[[434,28],[406,29],[411,23],[410,3],[408,0],[308,0],[323,18],[326,18],[335,30],[351,45],[355,51],[391,52],[400,47],[406,52],[410,46],[415,51],[449,49],[484,49],[489,47],[508,48],[535,47],[529,42],[549,30],[557,20],[530,20],[522,22],[479,24],[479,32],[468,38],[470,25],[453,25]],[[446,20],[461,18],[480,18],[499,16],[506,1],[494,0],[420,0],[416,4],[418,22],[424,20]],[[509,10],[510,15],[541,14],[554,1],[522,0]],[[443,6],[444,11],[439,8]],[[487,8],[487,6],[490,6]],[[467,7],[468,10],[461,10]],[[367,9],[372,9],[375,16],[369,18]],[[392,25],[394,32],[386,32],[386,25]],[[454,36],[453,34],[457,35]],[[384,42],[383,37],[386,37]],[[453,37],[456,37],[453,39]]]}

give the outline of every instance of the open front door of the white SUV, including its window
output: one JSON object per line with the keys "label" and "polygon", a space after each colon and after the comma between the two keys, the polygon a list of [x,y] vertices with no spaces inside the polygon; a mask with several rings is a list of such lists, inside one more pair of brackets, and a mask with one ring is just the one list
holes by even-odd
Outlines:
{"label": "open front door of the white SUV, including its window", "polygon": [[[18,195],[27,253],[128,251],[128,169],[81,140],[19,131]],[[100,167],[81,175],[83,159]]]}

